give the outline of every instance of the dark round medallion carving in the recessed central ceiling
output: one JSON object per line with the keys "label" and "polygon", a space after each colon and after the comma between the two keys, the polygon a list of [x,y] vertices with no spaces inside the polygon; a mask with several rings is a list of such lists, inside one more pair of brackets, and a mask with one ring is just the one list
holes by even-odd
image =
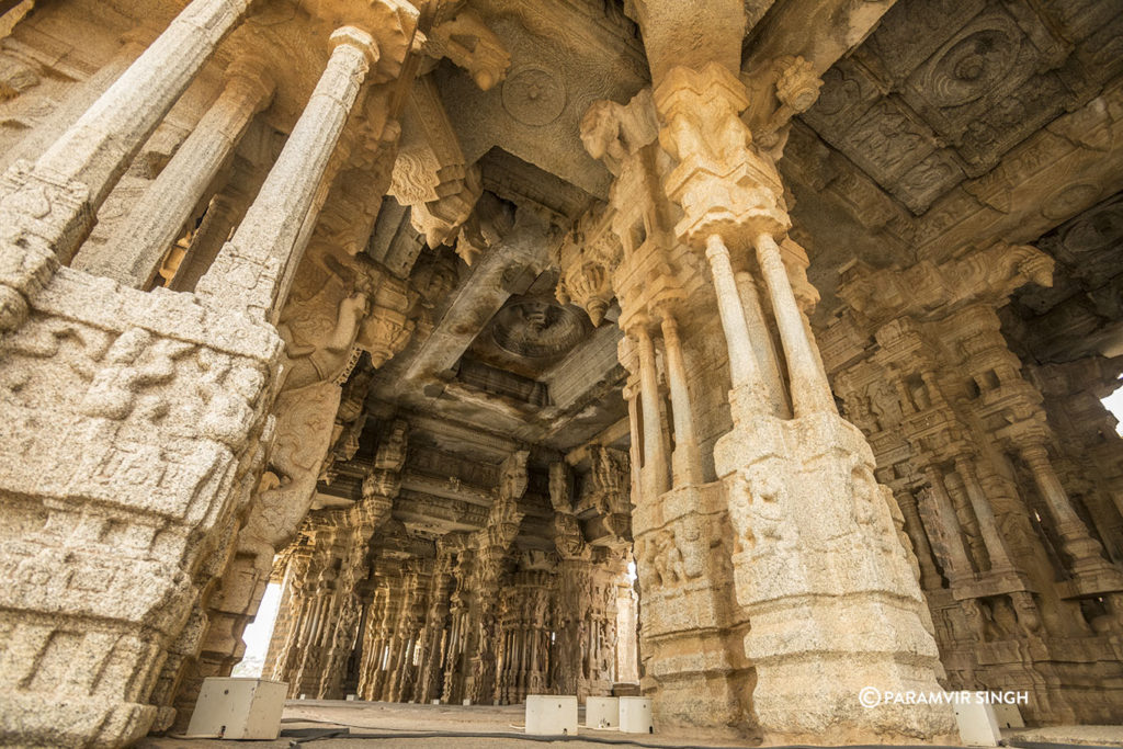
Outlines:
{"label": "dark round medallion carving in the recessed central ceiling", "polygon": [[584,317],[542,300],[508,304],[495,316],[492,337],[508,354],[545,359],[567,354],[585,337]]}

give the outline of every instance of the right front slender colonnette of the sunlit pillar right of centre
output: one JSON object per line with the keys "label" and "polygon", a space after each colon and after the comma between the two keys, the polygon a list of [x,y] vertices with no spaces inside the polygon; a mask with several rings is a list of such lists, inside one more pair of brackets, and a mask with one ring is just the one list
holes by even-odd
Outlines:
{"label": "right front slender colonnette of the sunlit pillar right of centre", "polygon": [[834,412],[834,396],[823,374],[822,363],[814,350],[814,344],[803,326],[803,313],[787,268],[779,254],[779,246],[770,234],[761,234],[756,239],[757,263],[764,275],[765,285],[776,316],[776,327],[784,345],[787,359],[788,384],[792,390],[792,407],[797,417],[816,411]]}

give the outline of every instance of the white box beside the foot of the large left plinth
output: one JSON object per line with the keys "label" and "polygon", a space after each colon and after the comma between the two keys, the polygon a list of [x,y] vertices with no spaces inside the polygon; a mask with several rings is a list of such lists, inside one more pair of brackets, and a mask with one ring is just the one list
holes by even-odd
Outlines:
{"label": "white box beside the foot of the large left plinth", "polygon": [[203,679],[188,736],[268,739],[281,734],[281,711],[289,685],[261,678]]}

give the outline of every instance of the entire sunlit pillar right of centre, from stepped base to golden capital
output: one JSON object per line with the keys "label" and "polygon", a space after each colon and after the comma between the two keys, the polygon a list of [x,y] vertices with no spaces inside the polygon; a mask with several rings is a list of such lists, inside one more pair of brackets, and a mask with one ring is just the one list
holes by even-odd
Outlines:
{"label": "entire sunlit pillar right of centre, from stepped base to golden capital", "polygon": [[[683,209],[675,231],[710,261],[729,341],[733,427],[713,458],[737,538],[729,557],[737,602],[751,622],[743,646],[756,672],[752,714],[777,742],[814,741],[823,731],[880,740],[950,734],[947,707],[853,707],[869,684],[939,689],[939,654],[889,490],[874,476],[862,435],[837,414],[804,326],[775,240],[791,227],[783,184],[740,119],[745,88],[715,62],[672,67],[655,83],[659,141],[677,161],[664,179]],[[773,415],[784,409],[768,401],[736,284],[754,245],[788,366],[789,420]]]}

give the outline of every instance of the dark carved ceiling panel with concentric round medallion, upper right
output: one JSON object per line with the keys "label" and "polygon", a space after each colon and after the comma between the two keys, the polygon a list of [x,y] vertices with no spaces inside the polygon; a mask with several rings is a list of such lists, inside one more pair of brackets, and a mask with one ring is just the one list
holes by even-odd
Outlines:
{"label": "dark carved ceiling panel with concentric round medallion, upper right", "polygon": [[1123,70],[1107,2],[901,0],[802,116],[921,214]]}

